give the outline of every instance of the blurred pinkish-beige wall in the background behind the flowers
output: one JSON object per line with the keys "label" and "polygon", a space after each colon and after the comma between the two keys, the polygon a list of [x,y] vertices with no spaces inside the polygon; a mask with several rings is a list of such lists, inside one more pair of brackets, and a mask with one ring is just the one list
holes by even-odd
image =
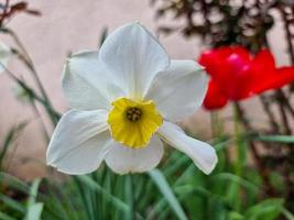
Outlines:
{"label": "blurred pinkish-beige wall in the background behind the flowers", "polygon": [[[104,26],[113,30],[126,22],[140,21],[152,31],[156,28],[154,9],[150,8],[148,0],[30,0],[30,4],[31,8],[41,10],[41,18],[22,14],[8,25],[23,41],[54,106],[59,111],[65,111],[67,108],[59,78],[68,52],[96,48]],[[274,52],[281,54],[277,56],[279,62],[283,64],[286,61],[282,56],[284,44],[277,41],[279,38],[281,32],[274,31],[271,41],[274,42]],[[1,40],[9,42],[7,37]],[[195,38],[185,40],[174,34],[168,37],[161,36],[161,41],[173,58],[194,59],[200,51],[200,44]],[[31,81],[28,73],[17,61],[10,62],[9,68]],[[12,173],[19,170],[22,177],[30,178],[35,174],[43,174],[45,144],[42,141],[39,121],[31,109],[13,98],[11,91],[13,86],[7,76],[0,76],[0,140],[8,129],[19,121],[31,121],[20,136],[17,156],[10,167]],[[205,120],[199,120],[203,116],[196,113],[194,120],[200,123],[197,123],[197,127],[192,125],[198,132],[209,128],[207,114]]]}

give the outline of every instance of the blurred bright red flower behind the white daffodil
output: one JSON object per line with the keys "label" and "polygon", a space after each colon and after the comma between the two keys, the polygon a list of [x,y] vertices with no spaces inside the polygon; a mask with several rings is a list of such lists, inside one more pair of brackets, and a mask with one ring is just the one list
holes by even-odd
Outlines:
{"label": "blurred bright red flower behind the white daffodil", "polygon": [[219,109],[228,101],[240,101],[294,81],[294,67],[276,68],[269,50],[255,56],[241,46],[206,51],[199,63],[210,75],[206,109]]}

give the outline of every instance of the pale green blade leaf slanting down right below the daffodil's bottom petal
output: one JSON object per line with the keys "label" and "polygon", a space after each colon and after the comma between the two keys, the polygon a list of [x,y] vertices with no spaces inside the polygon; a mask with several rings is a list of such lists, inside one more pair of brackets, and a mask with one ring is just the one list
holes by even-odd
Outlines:
{"label": "pale green blade leaf slanting down right below the daffodil's bottom petal", "polygon": [[173,189],[166,182],[165,177],[159,169],[153,169],[148,173],[151,179],[155,183],[155,185],[159,187],[167,202],[170,204],[171,208],[174,210],[178,219],[186,220],[188,219],[181,207],[178,200],[176,199]]}

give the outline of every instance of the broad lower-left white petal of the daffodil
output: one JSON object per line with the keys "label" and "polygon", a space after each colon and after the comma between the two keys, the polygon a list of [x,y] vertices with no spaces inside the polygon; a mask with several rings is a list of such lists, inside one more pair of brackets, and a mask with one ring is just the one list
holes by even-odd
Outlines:
{"label": "broad lower-left white petal of the daffodil", "polygon": [[59,120],[47,148],[47,164],[67,174],[97,169],[111,143],[107,111],[70,110]]}

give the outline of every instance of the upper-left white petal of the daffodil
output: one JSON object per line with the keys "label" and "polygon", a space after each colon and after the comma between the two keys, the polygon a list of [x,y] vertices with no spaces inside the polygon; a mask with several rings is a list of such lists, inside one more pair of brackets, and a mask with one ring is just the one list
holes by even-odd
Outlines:
{"label": "upper-left white petal of the daffodil", "polygon": [[68,58],[64,68],[63,89],[72,108],[110,109],[110,103],[126,96],[119,79],[99,62],[98,52],[80,52]]}

